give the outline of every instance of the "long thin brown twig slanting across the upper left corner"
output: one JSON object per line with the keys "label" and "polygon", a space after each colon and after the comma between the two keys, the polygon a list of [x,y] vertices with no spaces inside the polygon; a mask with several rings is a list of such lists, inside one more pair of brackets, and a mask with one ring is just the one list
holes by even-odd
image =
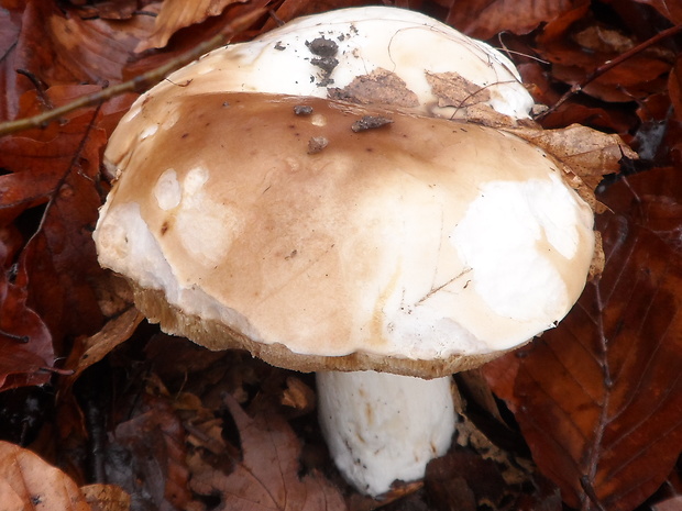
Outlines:
{"label": "long thin brown twig slanting across the upper left corner", "polygon": [[172,71],[189,64],[193,60],[196,60],[205,53],[227,44],[235,34],[251,26],[265,12],[265,9],[254,9],[248,14],[237,18],[232,23],[230,23],[230,26],[226,32],[215,35],[208,41],[204,41],[188,52],[185,52],[179,57],[173,58],[172,60],[162,66],[158,66],[152,70],[148,70],[147,73],[136,76],[132,80],[124,81],[122,84],[118,84],[116,86],[102,89],[98,92],[84,96],[72,101],[70,103],[64,104],[53,110],[48,110],[43,113],[38,113],[36,115],[32,115],[30,118],[0,123],[0,136],[9,135],[11,133],[16,133],[19,131],[29,130],[32,127],[43,127],[47,123],[56,121],[57,119],[69,112],[86,107],[101,104],[103,101],[108,101],[112,98],[116,98],[117,96],[121,96],[124,92],[141,92],[143,90],[146,90],[160,82]]}

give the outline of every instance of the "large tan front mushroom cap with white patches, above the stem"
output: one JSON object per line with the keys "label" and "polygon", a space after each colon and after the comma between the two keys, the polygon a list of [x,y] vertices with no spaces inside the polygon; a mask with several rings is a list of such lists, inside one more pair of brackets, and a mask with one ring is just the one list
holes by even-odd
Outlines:
{"label": "large tan front mushroom cap with white patches, above the stem", "polygon": [[99,260],[142,312],[298,370],[480,365],[561,320],[593,255],[592,210],[553,159],[475,124],[152,95],[106,158]]}

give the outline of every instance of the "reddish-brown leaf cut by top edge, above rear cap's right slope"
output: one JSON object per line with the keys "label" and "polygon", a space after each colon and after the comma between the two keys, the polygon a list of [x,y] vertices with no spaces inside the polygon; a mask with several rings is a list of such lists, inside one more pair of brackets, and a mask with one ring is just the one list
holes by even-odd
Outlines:
{"label": "reddish-brown leaf cut by top edge, above rear cap's right slope", "polygon": [[440,0],[449,9],[446,23],[472,37],[487,40],[508,31],[527,34],[542,22],[584,4],[584,0]]}

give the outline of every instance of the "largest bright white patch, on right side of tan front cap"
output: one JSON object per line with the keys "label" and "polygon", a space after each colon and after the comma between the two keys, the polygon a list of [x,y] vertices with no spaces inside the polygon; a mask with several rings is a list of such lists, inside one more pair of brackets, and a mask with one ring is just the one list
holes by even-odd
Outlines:
{"label": "largest bright white patch, on right side of tan front cap", "polygon": [[552,264],[557,254],[547,251],[564,258],[575,254],[579,209],[557,179],[481,188],[450,238],[491,310],[519,321],[563,316],[568,290]]}

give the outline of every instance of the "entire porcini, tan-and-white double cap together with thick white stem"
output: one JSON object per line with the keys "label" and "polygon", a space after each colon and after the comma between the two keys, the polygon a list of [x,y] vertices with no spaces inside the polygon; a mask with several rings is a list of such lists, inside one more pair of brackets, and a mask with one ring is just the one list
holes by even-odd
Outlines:
{"label": "entire porcini, tan-and-white double cap together with thick white stem", "polygon": [[531,105],[505,57],[421,14],[295,21],[123,118],[100,263],[168,333],[319,371],[331,454],[381,495],[448,449],[448,375],[553,326],[583,288],[592,211],[551,156],[429,118]]}

